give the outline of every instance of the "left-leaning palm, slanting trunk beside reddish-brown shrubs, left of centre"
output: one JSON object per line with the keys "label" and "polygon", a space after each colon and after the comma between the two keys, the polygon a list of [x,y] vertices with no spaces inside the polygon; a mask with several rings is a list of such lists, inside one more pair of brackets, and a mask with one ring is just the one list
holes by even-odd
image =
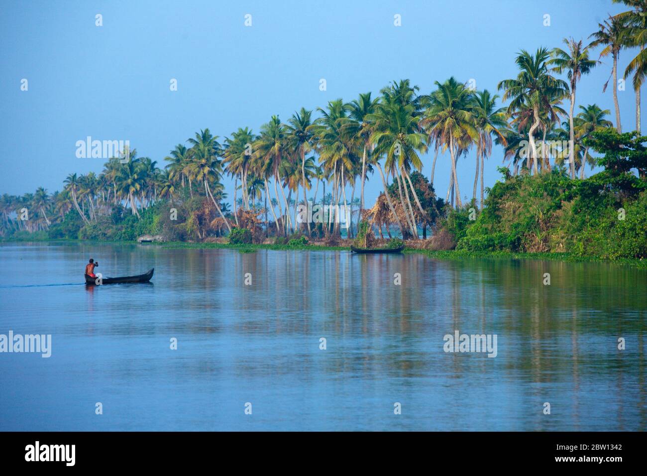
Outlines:
{"label": "left-leaning palm, slanting trunk beside reddish-brown shrubs, left of centre", "polygon": [[206,128],[200,132],[196,132],[195,139],[192,138],[187,141],[191,144],[189,151],[191,157],[189,170],[190,174],[196,180],[203,181],[204,193],[214,202],[215,209],[218,210],[218,213],[225,221],[227,229],[231,232],[232,227],[229,225],[229,221],[225,218],[223,210],[221,210],[209,187],[209,182],[214,184],[220,183],[223,172],[222,163],[217,157],[220,144],[216,139],[217,137],[212,135],[209,129]]}

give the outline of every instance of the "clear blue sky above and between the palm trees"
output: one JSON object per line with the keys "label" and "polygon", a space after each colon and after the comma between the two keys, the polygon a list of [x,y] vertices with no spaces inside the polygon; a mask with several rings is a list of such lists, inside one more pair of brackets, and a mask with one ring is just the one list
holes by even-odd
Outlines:
{"label": "clear blue sky above and between the palm trees", "polygon": [[[516,76],[520,49],[561,46],[565,36],[586,40],[599,21],[623,10],[611,0],[4,1],[0,194],[39,186],[53,192],[70,172],[100,172],[105,159],[75,155],[76,141],[88,135],[127,139],[138,155],[163,165],[175,144],[200,129],[220,141],[239,127],[258,132],[272,114],[287,120],[302,106],[377,95],[391,80],[409,78],[426,94],[434,81],[455,76],[496,91],[499,80]],[[631,55],[620,54],[620,71]],[[595,102],[615,121],[611,88],[602,93],[610,72],[609,59],[585,76],[576,106]],[[23,78],[28,91],[21,91]],[[619,102],[630,130],[630,85]],[[486,187],[499,178],[502,158],[495,148]],[[423,157],[426,176],[432,159]],[[459,163],[463,196],[472,193],[474,160],[472,152]],[[435,185],[443,198],[449,172],[448,157],[439,157]],[[233,181],[225,184],[231,197]],[[380,190],[379,177],[369,177],[367,201]]]}

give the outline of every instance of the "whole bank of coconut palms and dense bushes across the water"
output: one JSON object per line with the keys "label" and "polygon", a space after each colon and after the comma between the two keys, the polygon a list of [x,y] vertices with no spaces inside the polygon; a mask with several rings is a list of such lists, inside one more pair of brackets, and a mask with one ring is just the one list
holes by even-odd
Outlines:
{"label": "whole bank of coconut palms and dense bushes across the water", "polygon": [[[569,38],[564,49],[522,50],[518,75],[497,85],[505,107],[498,95],[453,77],[428,93],[400,80],[377,96],[301,108],[286,122],[272,116],[258,135],[239,128],[221,143],[204,129],[177,144],[164,168],[133,149],[122,151],[126,161],[109,159],[98,175],[70,174],[61,192],[41,187],[21,197],[3,195],[0,236],[135,240],[164,234],[195,242],[228,236],[230,244],[272,237],[277,245],[304,247],[313,240],[336,245],[360,231],[356,244],[366,244],[368,232],[395,246],[399,238],[422,234],[424,240],[432,228],[423,245],[430,249],[644,256],[646,138],[639,91],[647,71],[647,0],[624,3],[631,9],[600,23],[588,45]],[[610,111],[597,104],[576,108],[578,82],[600,67],[590,56],[598,47],[600,58],[613,60],[615,126]],[[635,133],[625,134],[616,87],[622,51],[637,51],[624,71],[637,93]],[[506,166],[486,199],[483,171],[495,144]],[[419,172],[427,152],[433,153],[430,177]],[[435,163],[446,152],[450,186],[439,198]],[[459,170],[468,170],[459,160],[470,154],[471,200],[457,179]],[[596,164],[604,170],[586,178],[586,166]],[[231,203],[225,175],[234,179]],[[371,208],[364,202],[367,179],[377,179],[383,190]],[[335,210],[303,222],[299,206],[308,202]],[[338,220],[346,211],[347,229]],[[360,222],[367,225],[358,229]]]}

